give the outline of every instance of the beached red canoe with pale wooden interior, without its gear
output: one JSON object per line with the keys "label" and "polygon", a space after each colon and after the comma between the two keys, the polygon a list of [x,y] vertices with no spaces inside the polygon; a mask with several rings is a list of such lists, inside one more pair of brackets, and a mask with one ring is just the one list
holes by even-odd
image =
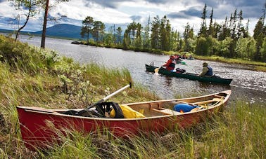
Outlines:
{"label": "beached red canoe with pale wooden interior, without its gear", "polygon": [[[17,106],[17,110],[25,146],[35,150],[35,148],[47,148],[49,144],[57,140],[58,134],[65,134],[66,130],[76,130],[84,134],[108,130],[117,137],[125,137],[139,134],[139,132],[160,133],[174,127],[185,129],[221,111],[230,95],[231,90],[226,90],[200,97],[126,104],[135,111],[141,109],[142,113],[144,112],[144,118],[72,116],[63,114],[68,111],[65,109],[42,109],[28,106]],[[189,112],[173,111],[173,107],[178,104],[197,105],[197,108]]]}

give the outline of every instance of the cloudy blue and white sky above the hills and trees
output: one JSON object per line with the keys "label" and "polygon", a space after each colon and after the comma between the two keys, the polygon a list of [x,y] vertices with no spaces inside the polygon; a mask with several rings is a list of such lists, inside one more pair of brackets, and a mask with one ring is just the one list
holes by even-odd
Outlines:
{"label": "cloudy blue and white sky above the hills and trees", "polygon": [[[207,25],[209,25],[210,12],[213,9],[213,21],[222,25],[225,18],[230,18],[236,10],[243,12],[243,26],[248,20],[248,29],[253,35],[253,29],[259,18],[263,15],[265,0],[70,0],[53,5],[49,10],[49,17],[61,17],[57,22],[51,21],[47,27],[56,24],[71,24],[82,26],[82,20],[91,16],[105,24],[127,26],[135,21],[146,26],[148,18],[151,21],[157,15],[163,18],[166,15],[170,20],[171,27],[177,32],[184,32],[184,27],[189,24],[195,33],[201,26],[201,13],[203,6],[207,5]],[[54,4],[54,0],[50,0]],[[23,22],[23,11],[16,11],[11,6],[11,1],[0,0],[0,28],[17,29],[12,19],[18,17]],[[23,31],[42,30],[44,11],[31,18]],[[106,25],[107,26],[107,25]],[[107,28],[108,29],[108,28]]]}

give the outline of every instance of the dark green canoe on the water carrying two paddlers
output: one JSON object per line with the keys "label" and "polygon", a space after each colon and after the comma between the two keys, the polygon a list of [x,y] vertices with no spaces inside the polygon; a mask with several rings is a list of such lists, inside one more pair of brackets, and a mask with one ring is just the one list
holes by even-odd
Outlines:
{"label": "dark green canoe on the water carrying two paddlers", "polygon": [[212,77],[200,77],[197,74],[191,74],[191,73],[176,73],[172,71],[167,71],[163,67],[155,67],[152,65],[146,64],[146,71],[149,72],[155,72],[158,71],[158,74],[163,74],[165,76],[174,76],[174,77],[179,77],[179,78],[187,78],[191,80],[196,80],[196,81],[201,81],[201,82],[208,82],[208,83],[220,83],[224,85],[229,85],[232,82],[232,79],[228,78],[220,78],[218,76],[212,76]]}

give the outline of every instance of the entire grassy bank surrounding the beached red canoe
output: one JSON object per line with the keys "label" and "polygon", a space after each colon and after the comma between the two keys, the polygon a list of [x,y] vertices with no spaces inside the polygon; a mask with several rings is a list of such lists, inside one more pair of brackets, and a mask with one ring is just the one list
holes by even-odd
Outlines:
{"label": "entire grassy bank surrounding the beached red canoe", "polygon": [[[51,50],[0,35],[0,158],[265,158],[265,106],[236,102],[194,129],[116,139],[109,133],[69,132],[63,144],[32,152],[21,141],[15,106],[84,108],[127,85],[127,69],[80,65]],[[192,94],[193,92],[191,92]],[[119,103],[157,99],[135,84],[112,97]]]}

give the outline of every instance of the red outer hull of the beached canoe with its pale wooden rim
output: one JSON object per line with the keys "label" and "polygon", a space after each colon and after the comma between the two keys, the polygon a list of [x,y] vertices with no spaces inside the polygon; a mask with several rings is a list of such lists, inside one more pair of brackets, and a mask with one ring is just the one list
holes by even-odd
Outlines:
{"label": "red outer hull of the beached canoe with its pale wooden rim", "polygon": [[[231,91],[229,93],[231,94]],[[204,98],[208,99],[207,97]],[[146,118],[89,118],[62,114],[60,112],[66,111],[63,109],[41,109],[27,106],[17,106],[17,110],[25,146],[34,151],[40,148],[49,148],[50,145],[59,143],[60,137],[72,130],[84,134],[105,133],[108,130],[116,137],[130,137],[139,133],[171,131],[177,127],[186,129],[210,118],[213,113],[219,112],[228,98],[229,95],[224,96],[224,100],[220,104],[210,109],[177,115],[161,114]],[[186,100],[188,101],[188,99],[184,99],[184,102]],[[153,106],[164,102],[167,101],[139,102],[127,105],[136,109],[137,107]],[[148,111],[147,107],[145,108],[145,111]]]}

